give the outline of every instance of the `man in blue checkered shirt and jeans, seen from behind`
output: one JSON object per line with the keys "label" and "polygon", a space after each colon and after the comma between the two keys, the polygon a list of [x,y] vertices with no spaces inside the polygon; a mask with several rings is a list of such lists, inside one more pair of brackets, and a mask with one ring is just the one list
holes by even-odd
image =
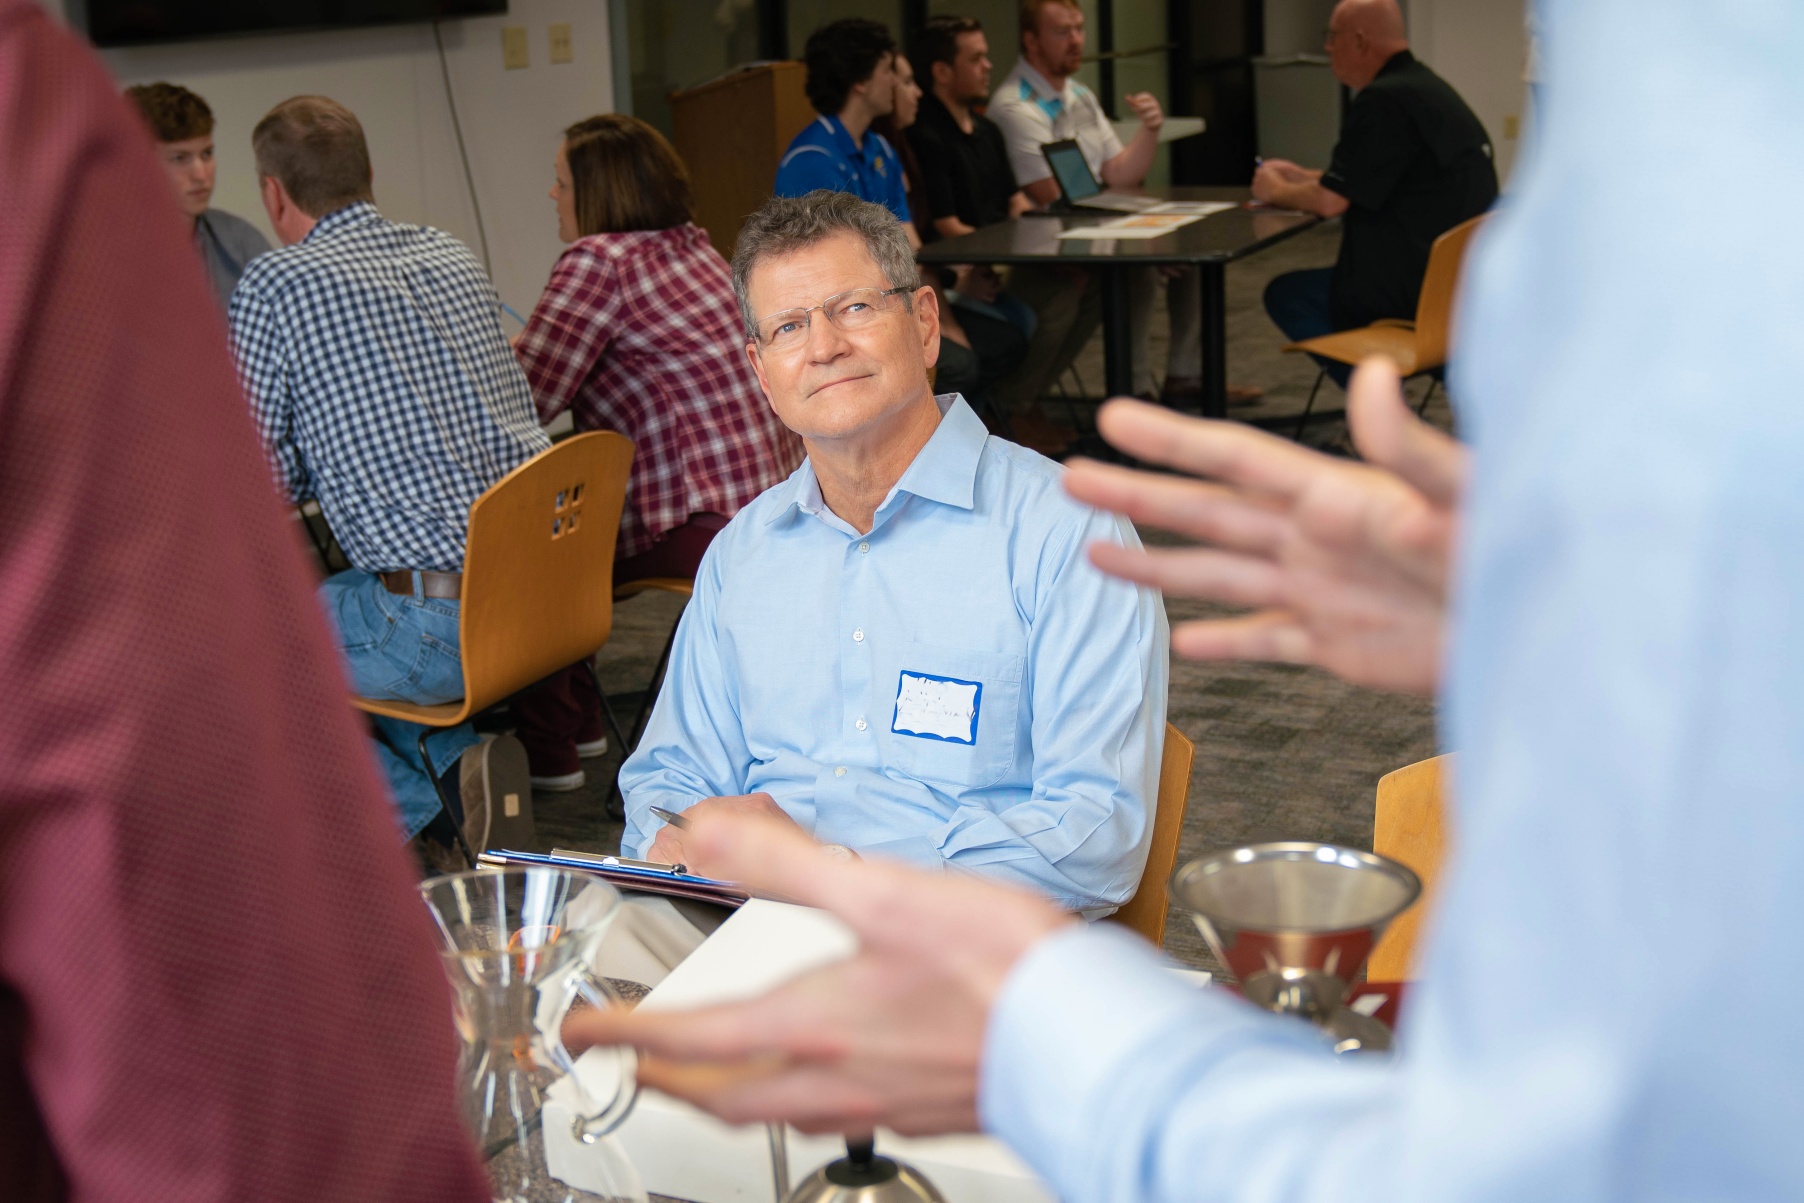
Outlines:
{"label": "man in blue checkered shirt and jeans, seen from behind", "polygon": [[[290,501],[319,503],[352,563],[319,588],[352,687],[453,702],[469,507],[550,442],[482,265],[451,234],[377,213],[357,117],[298,96],[251,141],[283,247],[238,281],[231,334],[276,482]],[[530,797],[511,736],[437,732],[428,770],[420,727],[375,727],[402,833],[426,831],[438,866],[451,842],[442,795],[462,801],[473,849],[491,833],[491,795]]]}

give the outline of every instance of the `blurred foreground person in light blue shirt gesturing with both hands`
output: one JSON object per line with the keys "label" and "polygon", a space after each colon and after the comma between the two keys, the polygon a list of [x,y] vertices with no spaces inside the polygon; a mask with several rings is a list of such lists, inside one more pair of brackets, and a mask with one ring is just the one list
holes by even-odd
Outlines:
{"label": "blurred foreground person in light blue shirt gesturing with both hands", "polygon": [[[1804,1198],[1804,227],[1725,215],[1707,186],[1757,164],[1763,195],[1804,189],[1782,153],[1804,114],[1804,9],[1544,14],[1544,142],[1459,307],[1474,460],[1441,682],[1456,840],[1402,1057],[1337,1061],[1308,1026],[1198,992],[1037,900],[815,868],[783,831],[731,821],[696,831],[700,866],[794,882],[848,916],[859,960],[599,1035],[759,1059],[756,1077],[678,1088],[736,1120],[981,1122],[1072,1203]],[[1106,417],[1128,449],[1247,489],[1221,505],[1169,478],[1073,478],[1158,500],[1216,543],[1108,559],[1265,608],[1174,633],[1182,651],[1373,680],[1382,633],[1413,644],[1389,669],[1423,664],[1432,606],[1407,599],[1434,593],[1458,456],[1409,426],[1394,377],[1385,400],[1366,372],[1353,417],[1391,473]],[[1355,545],[1371,572],[1340,579]]]}

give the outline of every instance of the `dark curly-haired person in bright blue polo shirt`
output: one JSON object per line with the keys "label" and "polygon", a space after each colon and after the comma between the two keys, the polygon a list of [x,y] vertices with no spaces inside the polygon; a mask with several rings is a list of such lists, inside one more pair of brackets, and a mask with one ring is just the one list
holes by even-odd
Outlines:
{"label": "dark curly-haired person in bright blue polo shirt", "polygon": [[871,121],[895,108],[897,41],[877,22],[857,16],[815,29],[803,51],[808,103],[821,114],[788,144],[778,164],[778,197],[815,189],[851,193],[897,215],[909,245],[920,234],[907,209],[902,161]]}

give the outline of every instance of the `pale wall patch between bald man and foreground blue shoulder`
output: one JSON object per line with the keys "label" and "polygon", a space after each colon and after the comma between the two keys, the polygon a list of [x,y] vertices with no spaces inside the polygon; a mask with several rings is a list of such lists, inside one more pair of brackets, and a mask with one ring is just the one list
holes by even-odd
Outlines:
{"label": "pale wall patch between bald man and foreground blue shoulder", "polygon": [[1411,51],[1485,123],[1508,180],[1528,128],[1524,0],[1409,0],[1407,13]]}

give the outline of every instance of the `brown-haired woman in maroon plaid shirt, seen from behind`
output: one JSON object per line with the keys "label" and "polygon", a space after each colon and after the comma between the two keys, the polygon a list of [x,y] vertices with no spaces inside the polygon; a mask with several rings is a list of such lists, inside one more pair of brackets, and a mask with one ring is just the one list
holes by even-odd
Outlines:
{"label": "brown-haired woman in maroon plaid shirt, seen from behind", "polygon": [[[801,464],[745,359],[732,272],[693,220],[664,135],[606,114],[557,148],[557,236],[570,247],[514,354],[539,420],[633,440],[613,581],[693,577],[714,532]],[[599,756],[601,700],[566,669],[514,700],[532,785],[575,790]]]}

